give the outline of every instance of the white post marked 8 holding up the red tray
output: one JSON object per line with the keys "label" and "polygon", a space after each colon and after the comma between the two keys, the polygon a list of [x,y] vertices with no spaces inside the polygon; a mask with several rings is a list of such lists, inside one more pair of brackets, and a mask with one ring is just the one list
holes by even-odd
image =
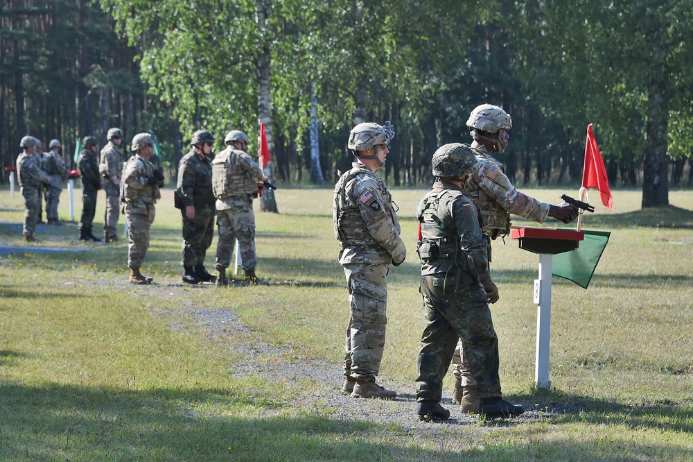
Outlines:
{"label": "white post marked 8 holding up the red tray", "polygon": [[536,308],[536,388],[551,388],[549,380],[549,347],[551,339],[551,273],[553,255],[539,254],[539,279],[534,280]]}

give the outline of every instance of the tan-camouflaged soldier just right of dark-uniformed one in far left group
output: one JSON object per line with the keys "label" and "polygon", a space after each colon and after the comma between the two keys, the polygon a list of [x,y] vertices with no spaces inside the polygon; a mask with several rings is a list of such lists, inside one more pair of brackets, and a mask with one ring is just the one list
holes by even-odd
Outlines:
{"label": "tan-camouflaged soldier just right of dark-uniformed one in far left group", "polygon": [[121,175],[125,155],[120,150],[123,132],[120,128],[110,128],[108,143],[101,150],[98,173],[103,177],[103,190],[106,191],[106,214],[103,218],[103,241],[118,241],[118,216],[120,214]]}

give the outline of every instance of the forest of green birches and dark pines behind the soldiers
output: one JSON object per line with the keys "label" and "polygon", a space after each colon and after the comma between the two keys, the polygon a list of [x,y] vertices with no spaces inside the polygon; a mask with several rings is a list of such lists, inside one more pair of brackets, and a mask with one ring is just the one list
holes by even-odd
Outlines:
{"label": "forest of green birches and dark pines behind the soldiers", "polygon": [[[175,166],[192,132],[257,139],[280,183],[333,183],[349,130],[390,120],[384,176],[427,185],[437,146],[492,103],[518,185],[579,185],[586,127],[642,207],[693,184],[693,0],[0,0],[0,152],[109,127],[155,132]],[[312,146],[311,146],[312,144]],[[256,152],[257,145],[250,151]],[[7,176],[3,176],[3,181]]]}

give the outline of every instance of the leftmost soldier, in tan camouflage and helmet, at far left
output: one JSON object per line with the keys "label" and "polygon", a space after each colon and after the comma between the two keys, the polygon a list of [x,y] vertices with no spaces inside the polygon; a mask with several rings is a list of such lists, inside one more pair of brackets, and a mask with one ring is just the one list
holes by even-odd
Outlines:
{"label": "leftmost soldier, in tan camouflage and helmet, at far left", "polygon": [[36,139],[26,136],[19,142],[24,151],[17,157],[17,177],[21,196],[24,197],[24,225],[22,234],[26,242],[40,242],[34,237],[34,229],[40,211],[39,193],[49,181],[48,175],[41,169],[41,160],[35,154]]}

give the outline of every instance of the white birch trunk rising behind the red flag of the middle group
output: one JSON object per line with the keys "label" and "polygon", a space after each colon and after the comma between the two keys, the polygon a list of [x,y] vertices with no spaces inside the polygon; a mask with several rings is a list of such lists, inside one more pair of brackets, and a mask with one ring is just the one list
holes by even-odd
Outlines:
{"label": "white birch trunk rising behind the red flag of the middle group", "polygon": [[[258,28],[260,28],[262,37],[261,52],[258,56],[257,62],[258,80],[260,83],[260,91],[258,96],[258,126],[260,122],[265,123],[267,146],[269,146],[270,153],[272,153],[272,62],[270,55],[270,40],[266,37],[267,19],[269,15],[267,12],[268,3],[270,3],[270,0],[255,1],[256,22],[258,24]],[[272,156],[270,155],[270,159],[271,158]],[[269,177],[270,182],[272,182],[272,162],[267,162],[267,164],[263,165],[263,171],[265,176]],[[260,210],[262,212],[278,212],[277,200],[274,198],[274,191],[272,191],[272,189],[265,189],[265,191],[263,191],[263,195],[260,200]]]}

